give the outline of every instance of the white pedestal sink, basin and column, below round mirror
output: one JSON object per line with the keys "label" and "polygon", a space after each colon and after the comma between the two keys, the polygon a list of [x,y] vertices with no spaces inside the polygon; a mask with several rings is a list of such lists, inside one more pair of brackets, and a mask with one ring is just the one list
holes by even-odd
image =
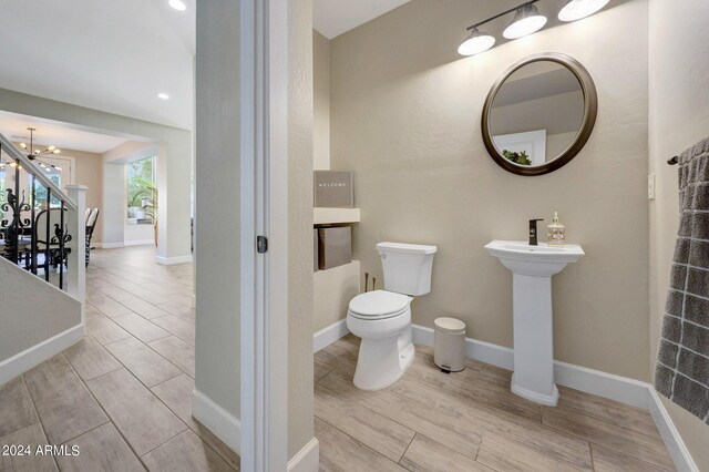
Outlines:
{"label": "white pedestal sink, basin and column, below round mirror", "polygon": [[583,255],[580,246],[531,246],[493,240],[485,246],[513,274],[514,373],[512,391],[536,403],[556,407],[552,276]]}

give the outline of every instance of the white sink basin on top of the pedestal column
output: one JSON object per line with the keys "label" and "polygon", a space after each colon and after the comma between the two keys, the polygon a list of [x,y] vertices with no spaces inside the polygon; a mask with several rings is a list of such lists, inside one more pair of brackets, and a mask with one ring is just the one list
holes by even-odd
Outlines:
{"label": "white sink basin on top of the pedestal column", "polygon": [[485,249],[513,274],[535,277],[558,274],[568,263],[575,263],[584,255],[584,249],[576,244],[549,246],[540,243],[538,246],[530,246],[520,240],[493,240]]}

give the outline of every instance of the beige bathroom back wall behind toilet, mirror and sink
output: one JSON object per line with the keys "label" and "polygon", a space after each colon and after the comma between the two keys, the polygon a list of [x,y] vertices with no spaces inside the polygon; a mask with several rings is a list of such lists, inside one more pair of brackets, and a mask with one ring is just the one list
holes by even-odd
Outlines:
{"label": "beige bathroom back wall behind toilet, mirror and sink", "polygon": [[[554,277],[555,358],[647,381],[647,1],[458,55],[471,19],[493,10],[412,0],[331,41],[331,166],[354,171],[357,258],[382,280],[378,242],[438,245],[414,322],[453,316],[469,336],[512,346],[512,275],[483,246],[523,240],[530,218],[558,211],[586,256]],[[598,119],[566,166],[513,175],[483,145],[483,102],[512,63],[547,51],[588,69]]]}

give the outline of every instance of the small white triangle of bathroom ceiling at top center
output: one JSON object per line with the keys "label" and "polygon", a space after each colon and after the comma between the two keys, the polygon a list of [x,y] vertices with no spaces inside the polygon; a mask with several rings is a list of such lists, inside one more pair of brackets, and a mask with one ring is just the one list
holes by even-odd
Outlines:
{"label": "small white triangle of bathroom ceiling at top center", "polygon": [[314,0],[312,27],[327,39],[333,39],[409,1]]}

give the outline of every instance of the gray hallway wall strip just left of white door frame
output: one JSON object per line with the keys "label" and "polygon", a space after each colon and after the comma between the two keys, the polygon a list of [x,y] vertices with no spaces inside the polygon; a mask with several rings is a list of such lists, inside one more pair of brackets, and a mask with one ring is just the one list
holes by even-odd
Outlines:
{"label": "gray hallway wall strip just left of white door frame", "polygon": [[239,418],[239,2],[197,2],[195,387]]}

